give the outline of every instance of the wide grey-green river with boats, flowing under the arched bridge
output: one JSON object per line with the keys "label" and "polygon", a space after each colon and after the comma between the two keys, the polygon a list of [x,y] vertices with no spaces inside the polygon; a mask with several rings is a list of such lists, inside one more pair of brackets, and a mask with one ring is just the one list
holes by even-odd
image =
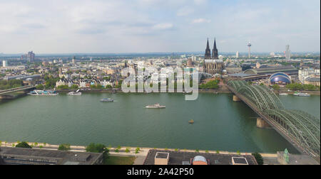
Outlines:
{"label": "wide grey-green river with boats, flowing under the arched bridge", "polygon": [[[101,103],[111,97],[113,103]],[[256,116],[232,94],[83,94],[21,97],[0,101],[0,140],[86,146],[140,146],[275,153],[290,143],[272,129],[258,129]],[[320,119],[320,96],[280,97],[288,109]],[[161,103],[166,109],[145,109]],[[193,119],[195,124],[188,124]]]}

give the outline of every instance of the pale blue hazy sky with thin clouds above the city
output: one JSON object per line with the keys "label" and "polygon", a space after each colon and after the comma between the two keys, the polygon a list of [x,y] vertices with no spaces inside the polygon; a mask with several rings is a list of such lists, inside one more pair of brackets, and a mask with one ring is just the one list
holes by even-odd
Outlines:
{"label": "pale blue hazy sky with thin clouds above the city", "polygon": [[320,51],[320,0],[0,0],[0,53]]}

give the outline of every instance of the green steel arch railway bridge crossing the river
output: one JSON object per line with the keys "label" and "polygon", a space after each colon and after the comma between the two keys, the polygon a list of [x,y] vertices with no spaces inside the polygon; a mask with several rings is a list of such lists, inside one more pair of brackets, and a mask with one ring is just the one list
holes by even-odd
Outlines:
{"label": "green steel arch railway bridge crossing the river", "polygon": [[230,81],[228,88],[302,153],[320,160],[320,120],[298,110],[285,109],[268,87]]}

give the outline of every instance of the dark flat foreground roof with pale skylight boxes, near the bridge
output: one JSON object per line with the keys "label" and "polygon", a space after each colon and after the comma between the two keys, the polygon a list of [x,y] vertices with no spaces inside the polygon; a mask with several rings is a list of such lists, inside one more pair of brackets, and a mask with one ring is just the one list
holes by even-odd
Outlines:
{"label": "dark flat foreground roof with pale skylight boxes, near the bridge", "polygon": [[169,153],[168,165],[182,165],[183,162],[190,162],[190,159],[195,156],[203,156],[210,161],[210,165],[232,165],[233,157],[244,157],[249,165],[258,165],[253,156],[238,156],[229,154],[215,154],[215,153],[196,153],[196,152],[183,152],[183,151],[158,151],[151,150],[145,159],[144,165],[154,165],[156,153],[163,152]]}

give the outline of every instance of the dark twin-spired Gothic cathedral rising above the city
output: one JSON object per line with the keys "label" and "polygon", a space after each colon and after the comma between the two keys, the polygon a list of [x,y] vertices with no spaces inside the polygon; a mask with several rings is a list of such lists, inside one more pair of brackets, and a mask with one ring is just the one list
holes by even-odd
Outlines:
{"label": "dark twin-spired Gothic cathedral rising above the city", "polygon": [[216,48],[216,39],[214,40],[213,53],[210,53],[210,44],[205,50],[205,59],[203,70],[210,75],[221,74],[224,68],[223,60],[218,60],[218,48]]}

